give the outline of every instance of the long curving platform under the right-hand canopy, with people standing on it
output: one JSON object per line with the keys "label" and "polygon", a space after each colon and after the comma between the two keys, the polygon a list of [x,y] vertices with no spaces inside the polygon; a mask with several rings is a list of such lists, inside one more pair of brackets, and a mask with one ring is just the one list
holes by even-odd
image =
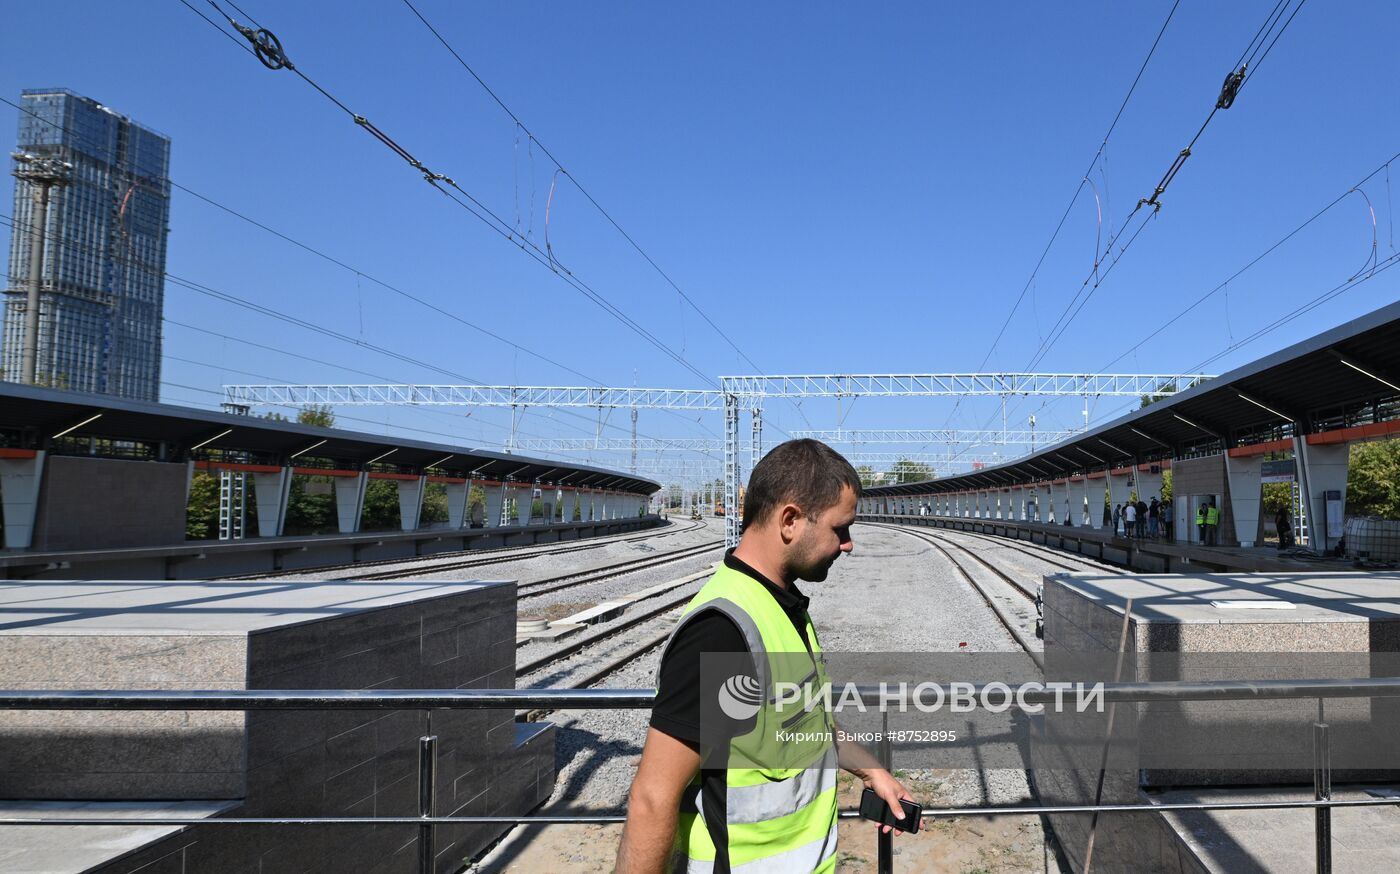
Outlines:
{"label": "long curving platform under the right-hand canopy, with people standing on it", "polygon": [[1280,552],[1273,546],[1201,546],[1200,543],[1183,541],[1128,539],[1116,535],[1107,528],[1092,527],[1077,528],[1072,525],[1047,525],[1011,520],[897,514],[862,514],[858,517],[858,521],[990,534],[1043,543],[1147,573],[1337,571],[1348,570],[1355,564],[1351,559]]}

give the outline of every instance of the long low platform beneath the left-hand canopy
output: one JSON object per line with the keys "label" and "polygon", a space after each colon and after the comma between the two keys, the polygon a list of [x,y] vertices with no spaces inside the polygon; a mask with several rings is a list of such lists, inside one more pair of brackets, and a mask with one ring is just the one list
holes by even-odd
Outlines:
{"label": "long low platform beneath the left-hand canopy", "polygon": [[367,534],[186,541],[168,546],[0,550],[0,580],[207,580],[286,570],[412,559],[441,552],[531,546],[641,531],[664,524],[658,515],[507,525],[500,528],[417,528]]}

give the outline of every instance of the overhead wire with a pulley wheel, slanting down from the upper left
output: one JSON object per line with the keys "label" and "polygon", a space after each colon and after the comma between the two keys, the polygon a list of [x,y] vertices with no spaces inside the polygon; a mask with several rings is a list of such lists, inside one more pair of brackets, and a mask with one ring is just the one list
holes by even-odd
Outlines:
{"label": "overhead wire with a pulley wheel, slanting down from the upper left", "polygon": [[[622,322],[624,326],[627,326],[629,329],[631,329],[634,333],[637,333],[638,336],[641,336],[643,339],[645,339],[650,345],[652,345],[658,352],[661,352],[662,354],[665,354],[668,359],[673,360],[676,364],[679,364],[685,370],[690,371],[692,374],[694,374],[696,377],[699,377],[704,382],[707,382],[710,385],[715,385],[714,378],[708,377],[704,371],[701,371],[700,368],[694,367],[689,360],[680,357],[673,349],[671,349],[668,345],[665,345],[664,342],[661,342],[650,331],[645,331],[634,319],[631,319],[630,317],[626,317],[626,314],[623,314],[622,310],[619,310],[615,304],[612,304],[610,301],[608,301],[595,289],[592,289],[587,283],[582,283],[581,280],[578,280],[578,277],[575,275],[573,275],[573,273],[563,273],[561,270],[559,270],[554,266],[553,259],[545,251],[542,251],[533,241],[522,240],[519,235],[517,235],[514,233],[514,230],[511,228],[511,226],[510,226],[508,221],[505,221],[504,218],[501,218],[500,216],[497,216],[490,207],[487,207],[484,203],[482,203],[479,199],[476,199],[470,192],[468,192],[461,185],[458,185],[455,179],[452,179],[451,176],[448,176],[445,174],[440,174],[440,172],[435,172],[435,171],[430,169],[417,157],[414,157],[412,151],[409,151],[407,148],[405,148],[403,146],[400,146],[398,141],[395,141],[389,134],[386,134],[378,126],[375,126],[372,122],[370,122],[370,119],[367,119],[365,116],[363,116],[360,113],[356,113],[354,111],[351,111],[344,102],[342,102],[339,98],[336,98],[333,94],[330,94],[330,91],[328,91],[326,88],[323,88],[321,84],[318,84],[309,76],[307,76],[307,73],[304,73],[300,67],[297,67],[295,64],[293,64],[291,60],[286,56],[286,53],[281,52],[280,42],[276,45],[276,52],[272,53],[272,57],[269,60],[269,57],[266,56],[267,52],[260,52],[259,50],[259,48],[260,48],[259,35],[266,34],[266,35],[270,36],[269,31],[259,29],[259,31],[253,32],[249,28],[246,28],[244,25],[239,25],[237,22],[237,20],[234,20],[232,17],[227,15],[225,13],[223,13],[223,10],[214,3],[214,0],[207,0],[207,3],[213,8],[216,8],[217,11],[220,11],[220,14],[224,15],[224,18],[228,20],[230,25],[235,31],[238,31],[239,34],[242,34],[244,38],[248,39],[253,45],[255,53],[258,55],[258,59],[262,60],[263,66],[266,66],[266,67],[269,67],[272,70],[286,69],[286,70],[290,70],[291,73],[294,73],[298,78],[301,78],[302,81],[305,81],[308,85],[311,85],[312,88],[315,88],[319,94],[322,94],[326,99],[329,99],[336,108],[339,108],[342,112],[344,112],[347,116],[350,116],[350,119],[357,126],[360,126],[364,130],[367,130],[377,140],[379,140],[388,148],[391,148],[396,155],[399,155],[402,160],[405,160],[410,167],[413,167],[416,171],[419,171],[423,175],[424,181],[428,182],[428,185],[431,185],[437,190],[440,190],[444,195],[447,195],[458,206],[461,206],[462,209],[465,209],[466,211],[469,211],[472,216],[475,216],[477,220],[480,220],[483,224],[486,224],[487,227],[490,227],[493,231],[496,231],[497,234],[500,234],[505,240],[515,242],[521,248],[521,251],[525,251],[525,252],[531,254],[535,258],[536,262],[539,262],[542,266],[545,266],[546,269],[549,269],[556,276],[560,276],[564,282],[567,282],[570,286],[573,286],[577,291],[582,293],[587,298],[589,298],[591,301],[594,301],[595,304],[598,304],[605,312],[608,312],[609,315],[612,315],[613,318],[616,318],[619,322]],[[209,18],[204,17],[204,15],[200,15],[200,18],[203,18],[204,21],[209,21]],[[224,31],[217,24],[214,24],[214,27],[217,29],[220,29],[221,32],[227,34],[227,31]],[[542,148],[543,148],[543,146],[542,146]],[[462,199],[459,199],[458,196],[454,196],[452,192],[456,192],[456,195],[461,195]]]}

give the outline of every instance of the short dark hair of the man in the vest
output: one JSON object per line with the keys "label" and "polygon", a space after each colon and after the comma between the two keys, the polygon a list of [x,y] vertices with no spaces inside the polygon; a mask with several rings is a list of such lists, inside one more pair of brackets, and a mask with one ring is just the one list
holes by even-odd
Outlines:
{"label": "short dark hair of the man in the vest", "polygon": [[797,504],[808,517],[836,506],[841,487],[861,494],[861,478],[840,452],[819,440],[788,440],[773,447],[749,475],[743,493],[743,527],[763,524],[783,504]]}

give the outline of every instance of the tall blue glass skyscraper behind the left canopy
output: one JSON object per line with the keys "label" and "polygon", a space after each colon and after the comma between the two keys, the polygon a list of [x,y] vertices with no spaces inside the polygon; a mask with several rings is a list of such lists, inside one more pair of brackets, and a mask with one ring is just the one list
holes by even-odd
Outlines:
{"label": "tall blue glass skyscraper behind the left canopy", "polygon": [[[160,399],[171,141],[63,88],[21,92],[18,153],[66,161],[50,189],[35,381]],[[17,169],[24,169],[15,161]],[[15,179],[6,380],[21,380],[35,182]]]}

